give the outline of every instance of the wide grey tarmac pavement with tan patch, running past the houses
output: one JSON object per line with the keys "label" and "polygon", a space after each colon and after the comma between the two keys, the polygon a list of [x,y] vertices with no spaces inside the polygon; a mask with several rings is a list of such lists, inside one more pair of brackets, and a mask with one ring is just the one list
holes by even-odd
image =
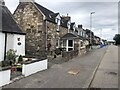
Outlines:
{"label": "wide grey tarmac pavement with tan patch, running past the houses", "polygon": [[68,62],[49,63],[51,66],[48,70],[20,79],[3,88],[87,88],[107,48],[93,49],[86,55]]}

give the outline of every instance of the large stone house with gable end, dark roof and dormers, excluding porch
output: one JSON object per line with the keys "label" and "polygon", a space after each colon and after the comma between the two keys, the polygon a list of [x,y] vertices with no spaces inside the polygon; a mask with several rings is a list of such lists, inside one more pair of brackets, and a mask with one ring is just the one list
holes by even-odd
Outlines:
{"label": "large stone house with gable end, dark roof and dormers, excluding porch", "polygon": [[46,57],[48,51],[61,47],[60,38],[68,33],[70,17],[61,17],[34,0],[28,1],[20,0],[13,14],[23,32],[26,32],[26,57]]}

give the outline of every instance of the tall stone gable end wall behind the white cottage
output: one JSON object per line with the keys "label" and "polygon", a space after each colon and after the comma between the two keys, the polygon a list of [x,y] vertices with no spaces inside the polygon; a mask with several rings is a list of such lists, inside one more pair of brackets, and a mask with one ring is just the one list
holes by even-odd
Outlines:
{"label": "tall stone gable end wall behind the white cottage", "polygon": [[21,2],[17,7],[14,18],[26,32],[26,57],[46,56],[46,34],[43,15],[30,2]]}

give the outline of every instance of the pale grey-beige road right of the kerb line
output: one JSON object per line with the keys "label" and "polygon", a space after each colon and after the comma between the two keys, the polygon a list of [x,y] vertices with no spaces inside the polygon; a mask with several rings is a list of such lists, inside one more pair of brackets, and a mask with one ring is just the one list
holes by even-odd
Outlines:
{"label": "pale grey-beige road right of the kerb line", "polygon": [[118,46],[110,45],[91,84],[93,88],[118,88]]}

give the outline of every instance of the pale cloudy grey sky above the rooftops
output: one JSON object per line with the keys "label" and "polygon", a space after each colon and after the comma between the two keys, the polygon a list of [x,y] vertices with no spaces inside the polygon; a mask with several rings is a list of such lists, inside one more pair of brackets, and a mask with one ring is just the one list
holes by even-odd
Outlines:
{"label": "pale cloudy grey sky above the rooftops", "polygon": [[[4,0],[13,13],[19,0]],[[35,0],[35,2],[60,15],[71,16],[76,26],[82,24],[90,29],[90,13],[92,14],[92,31],[106,40],[113,40],[118,33],[118,0]]]}

